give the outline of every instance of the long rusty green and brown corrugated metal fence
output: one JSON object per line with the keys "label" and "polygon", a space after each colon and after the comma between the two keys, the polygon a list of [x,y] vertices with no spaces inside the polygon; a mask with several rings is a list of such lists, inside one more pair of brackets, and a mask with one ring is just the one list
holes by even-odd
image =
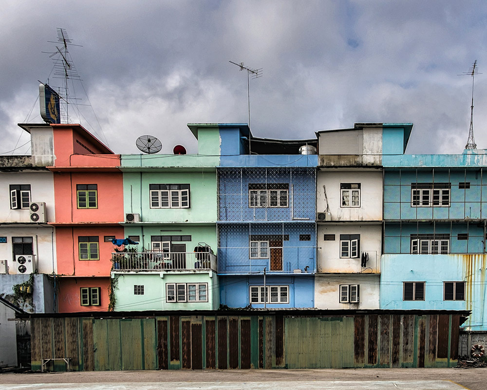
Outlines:
{"label": "long rusty green and brown corrugated metal fence", "polygon": [[[452,367],[460,314],[31,318],[32,369]],[[54,361],[50,370],[65,370]]]}

